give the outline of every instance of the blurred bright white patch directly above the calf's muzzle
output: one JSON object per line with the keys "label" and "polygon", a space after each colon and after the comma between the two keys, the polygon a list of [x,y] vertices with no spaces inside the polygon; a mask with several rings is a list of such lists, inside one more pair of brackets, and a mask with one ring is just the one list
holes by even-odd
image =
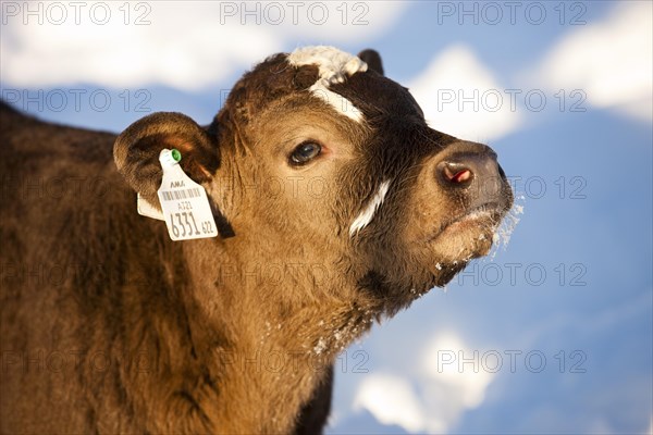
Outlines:
{"label": "blurred bright white patch directly above the calf's muzzle", "polygon": [[440,53],[408,87],[431,127],[463,139],[494,140],[520,121],[509,94],[461,45]]}

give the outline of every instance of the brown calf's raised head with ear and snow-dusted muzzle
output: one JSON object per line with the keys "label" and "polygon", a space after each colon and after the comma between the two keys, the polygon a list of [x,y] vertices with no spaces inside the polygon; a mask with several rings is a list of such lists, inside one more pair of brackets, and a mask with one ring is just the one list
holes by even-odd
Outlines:
{"label": "brown calf's raised head with ear and snow-dusted muzzle", "polygon": [[206,128],[178,113],[134,123],[114,157],[155,207],[162,148],[181,150],[233,228],[211,241],[221,256],[322,264],[333,272],[322,286],[352,288],[385,312],[488,253],[513,201],[496,154],[430,128],[373,51],[272,55]]}

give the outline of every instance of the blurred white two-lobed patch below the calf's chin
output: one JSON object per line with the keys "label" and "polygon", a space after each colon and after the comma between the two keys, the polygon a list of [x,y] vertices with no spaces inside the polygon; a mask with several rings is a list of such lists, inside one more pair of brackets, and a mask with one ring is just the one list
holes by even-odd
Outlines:
{"label": "blurred white two-lobed patch below the calf's chin", "polygon": [[[406,372],[367,376],[358,387],[354,409],[366,409],[379,422],[407,432],[446,433],[466,410],[483,402],[494,374],[458,336],[436,336],[422,357],[423,366],[411,377]],[[461,359],[467,361],[463,365]]]}

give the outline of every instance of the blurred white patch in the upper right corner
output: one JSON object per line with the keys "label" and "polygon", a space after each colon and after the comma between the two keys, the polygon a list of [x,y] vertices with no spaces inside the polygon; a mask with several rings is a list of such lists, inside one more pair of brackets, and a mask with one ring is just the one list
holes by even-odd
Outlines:
{"label": "blurred white patch in the upper right corner", "polygon": [[582,89],[587,101],[653,120],[653,3],[618,3],[603,22],[558,41],[531,80],[549,89]]}

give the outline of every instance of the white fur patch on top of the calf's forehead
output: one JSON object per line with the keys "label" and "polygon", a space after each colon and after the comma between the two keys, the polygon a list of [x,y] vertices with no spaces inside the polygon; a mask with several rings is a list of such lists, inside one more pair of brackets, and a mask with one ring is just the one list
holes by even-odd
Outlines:
{"label": "white fur patch on top of the calf's forehead", "polygon": [[309,90],[345,116],[362,122],[362,113],[349,100],[330,90],[329,86],[344,83],[356,73],[366,72],[367,63],[356,55],[328,46],[299,48],[288,55],[288,62],[294,66],[317,65],[320,78]]}

